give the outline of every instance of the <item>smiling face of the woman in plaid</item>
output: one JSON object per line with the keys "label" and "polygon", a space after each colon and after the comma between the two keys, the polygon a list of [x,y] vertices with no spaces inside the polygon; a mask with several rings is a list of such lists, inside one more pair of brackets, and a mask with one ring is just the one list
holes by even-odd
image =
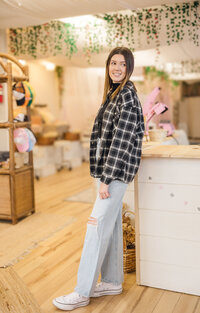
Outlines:
{"label": "smiling face of the woman in plaid", "polygon": [[109,76],[113,83],[121,83],[126,76],[126,62],[122,54],[114,54],[109,64]]}

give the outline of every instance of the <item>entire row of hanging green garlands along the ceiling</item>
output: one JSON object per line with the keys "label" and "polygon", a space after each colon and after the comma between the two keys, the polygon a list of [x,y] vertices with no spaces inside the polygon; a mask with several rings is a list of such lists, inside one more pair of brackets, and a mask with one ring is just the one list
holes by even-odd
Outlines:
{"label": "entire row of hanging green garlands along the ceiling", "polygon": [[77,53],[79,41],[82,54],[90,63],[92,54],[103,47],[127,46],[132,51],[172,45],[189,40],[199,46],[199,1],[172,6],[142,8],[136,11],[96,15],[83,27],[52,21],[39,26],[9,30],[10,52],[15,56],[45,57]]}

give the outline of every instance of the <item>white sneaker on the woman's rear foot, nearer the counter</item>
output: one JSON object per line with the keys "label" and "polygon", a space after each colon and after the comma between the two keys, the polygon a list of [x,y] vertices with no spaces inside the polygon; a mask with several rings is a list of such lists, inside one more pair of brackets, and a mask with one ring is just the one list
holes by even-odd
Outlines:
{"label": "white sneaker on the woman's rear foot, nearer the counter", "polygon": [[110,283],[101,282],[96,285],[92,297],[101,297],[108,295],[118,295],[122,293],[122,285],[114,285]]}

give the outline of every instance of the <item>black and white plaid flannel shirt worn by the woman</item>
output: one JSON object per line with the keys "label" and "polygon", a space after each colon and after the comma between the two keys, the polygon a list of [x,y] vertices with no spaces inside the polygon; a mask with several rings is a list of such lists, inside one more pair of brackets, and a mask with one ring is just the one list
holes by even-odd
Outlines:
{"label": "black and white plaid flannel shirt worn by the woman", "polygon": [[139,168],[144,134],[142,107],[131,81],[107,105],[101,134],[99,157],[96,159],[96,117],[90,139],[91,176],[100,178],[105,184],[113,180],[130,183]]}

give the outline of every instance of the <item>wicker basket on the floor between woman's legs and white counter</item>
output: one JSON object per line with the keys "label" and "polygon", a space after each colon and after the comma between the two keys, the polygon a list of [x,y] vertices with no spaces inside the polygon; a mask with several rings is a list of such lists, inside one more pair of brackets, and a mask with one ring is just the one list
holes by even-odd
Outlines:
{"label": "wicker basket on the floor between woman's legs and white counter", "polygon": [[[125,211],[123,213],[123,221],[126,217],[126,214],[134,213],[132,211]],[[135,233],[134,233],[135,235]],[[136,251],[135,244],[132,248],[127,247],[127,234],[123,232],[123,262],[124,262],[124,273],[134,272],[136,270]]]}

